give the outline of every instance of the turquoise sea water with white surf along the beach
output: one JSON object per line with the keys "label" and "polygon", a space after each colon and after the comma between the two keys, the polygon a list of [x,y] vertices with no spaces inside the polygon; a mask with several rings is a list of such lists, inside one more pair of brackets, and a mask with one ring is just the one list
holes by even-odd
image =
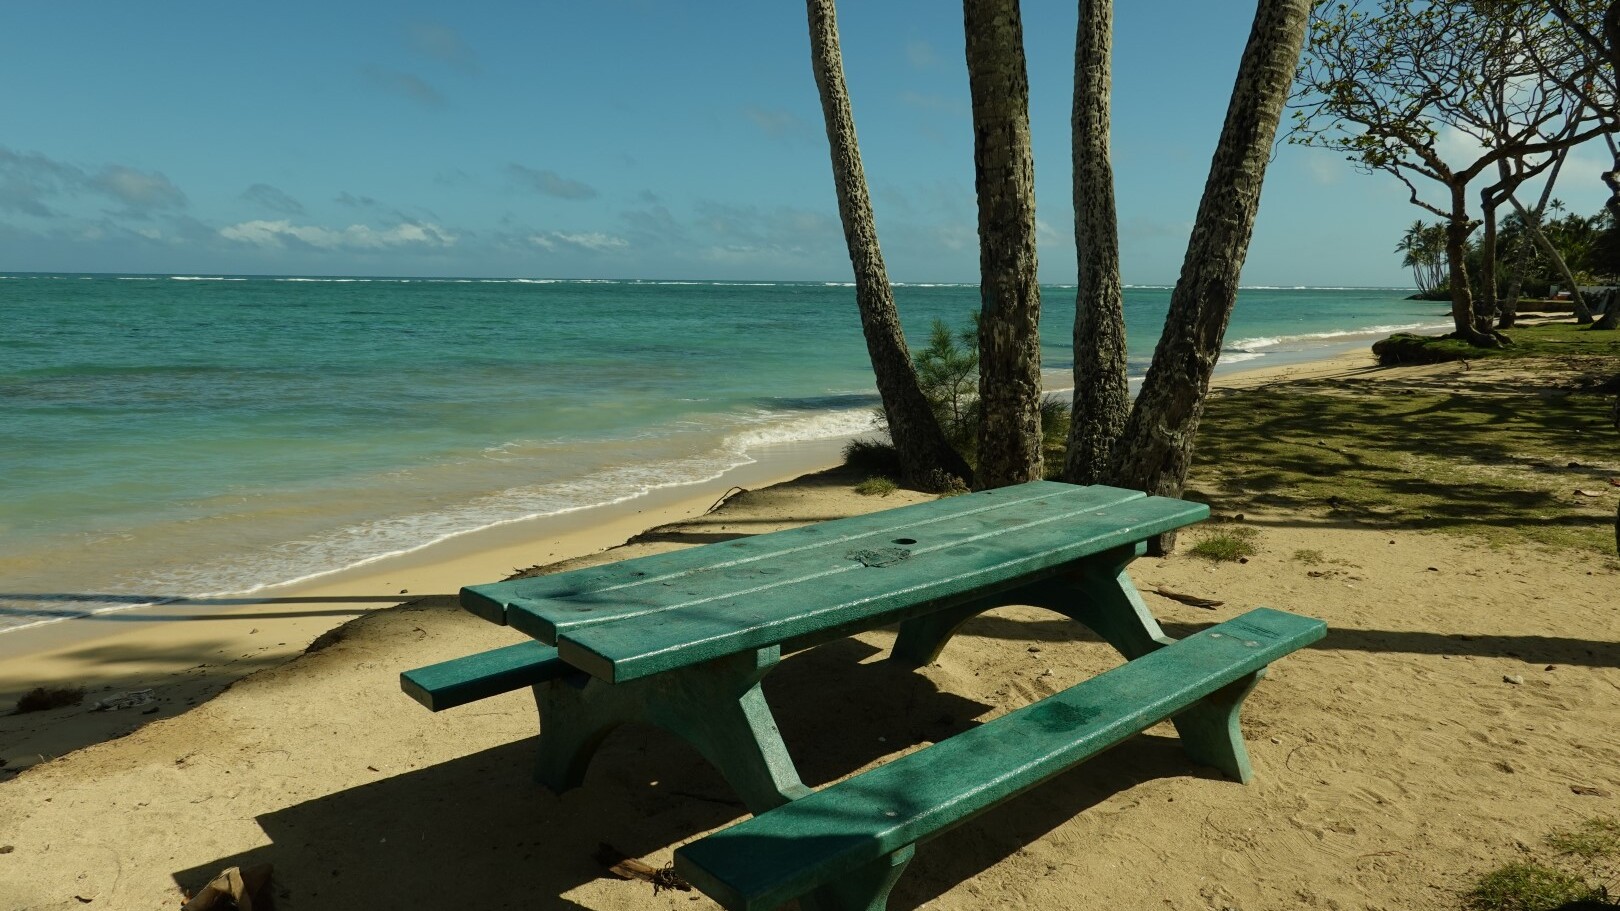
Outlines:
{"label": "turquoise sea water with white surf along the beach", "polygon": [[[1403,293],[1244,290],[1223,363],[1445,324]],[[1132,373],[1168,297],[1128,290]],[[978,290],[896,298],[917,340]],[[3,274],[0,316],[0,629],[710,480],[876,404],[841,284]]]}

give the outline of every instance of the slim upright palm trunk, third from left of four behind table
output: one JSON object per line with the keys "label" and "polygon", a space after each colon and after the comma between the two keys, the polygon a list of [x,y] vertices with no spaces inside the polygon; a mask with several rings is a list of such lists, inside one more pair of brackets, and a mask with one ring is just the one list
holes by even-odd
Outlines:
{"label": "slim upright palm trunk, third from left of four behind table", "polygon": [[1063,477],[1094,485],[1131,413],[1126,379],[1124,295],[1119,289],[1119,225],[1108,149],[1113,0],[1081,0],[1074,37],[1074,410]]}

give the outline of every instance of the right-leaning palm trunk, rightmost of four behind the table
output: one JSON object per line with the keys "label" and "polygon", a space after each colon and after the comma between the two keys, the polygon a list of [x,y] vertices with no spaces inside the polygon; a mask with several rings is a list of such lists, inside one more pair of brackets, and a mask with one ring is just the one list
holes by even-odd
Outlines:
{"label": "right-leaning palm trunk, rightmost of four behind the table", "polygon": [[[1179,496],[1238,277],[1249,251],[1277,122],[1293,84],[1312,0],[1260,0],[1204,198],[1170,295],[1153,365],[1115,449],[1115,483]],[[1174,543],[1163,537],[1155,550]]]}

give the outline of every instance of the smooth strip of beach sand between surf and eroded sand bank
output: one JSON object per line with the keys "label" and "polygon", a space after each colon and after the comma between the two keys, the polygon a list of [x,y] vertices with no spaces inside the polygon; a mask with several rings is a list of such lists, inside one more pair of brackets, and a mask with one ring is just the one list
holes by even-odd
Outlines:
{"label": "smooth strip of beach sand between surf and eroded sand bank", "polygon": [[[1322,358],[1241,361],[1215,387],[1243,387],[1374,366],[1359,342]],[[1251,366],[1254,365],[1254,366]],[[222,692],[235,681],[303,655],[348,621],[408,603],[454,605],[462,585],[531,566],[598,554],[659,525],[703,515],[731,488],[758,490],[833,468],[847,438],[770,444],[753,462],[697,485],[659,488],[616,504],[486,527],[424,548],[249,595],[173,600],[0,632],[0,705],[32,687],[84,687],[66,715],[0,715],[0,760],[19,770],[122,736]],[[152,689],[138,710],[89,712],[99,699]],[[156,710],[154,710],[156,708]]]}

